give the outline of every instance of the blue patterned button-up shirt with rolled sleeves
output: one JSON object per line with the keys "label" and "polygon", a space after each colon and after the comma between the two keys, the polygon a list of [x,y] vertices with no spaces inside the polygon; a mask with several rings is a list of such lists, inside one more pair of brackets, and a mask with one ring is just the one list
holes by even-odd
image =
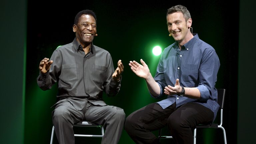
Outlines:
{"label": "blue patterned button-up shirt with rolled sleeves", "polygon": [[178,43],[164,49],[159,60],[155,81],[160,86],[161,93],[156,98],[164,96],[164,87],[174,86],[179,79],[182,87],[199,89],[200,100],[185,96],[170,95],[160,102],[165,109],[176,102],[176,107],[188,102],[199,103],[214,113],[216,118],[219,105],[217,103],[217,73],[220,67],[219,58],[212,46],[200,40],[197,34],[179,49]]}

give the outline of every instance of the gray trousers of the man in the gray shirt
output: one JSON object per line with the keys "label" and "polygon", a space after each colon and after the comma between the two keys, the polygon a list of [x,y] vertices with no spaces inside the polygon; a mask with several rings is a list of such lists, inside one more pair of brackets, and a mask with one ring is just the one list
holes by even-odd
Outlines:
{"label": "gray trousers of the man in the gray shirt", "polygon": [[59,144],[75,144],[73,125],[87,120],[103,125],[101,144],[117,144],[124,126],[124,110],[109,105],[93,105],[87,99],[64,99],[53,111],[53,125]]}

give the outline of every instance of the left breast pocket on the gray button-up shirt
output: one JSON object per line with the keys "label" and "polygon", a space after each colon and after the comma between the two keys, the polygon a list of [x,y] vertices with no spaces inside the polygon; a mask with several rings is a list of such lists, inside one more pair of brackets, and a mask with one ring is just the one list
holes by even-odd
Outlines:
{"label": "left breast pocket on the gray button-up shirt", "polygon": [[64,82],[71,82],[78,80],[78,64],[64,64],[61,67],[60,79]]}

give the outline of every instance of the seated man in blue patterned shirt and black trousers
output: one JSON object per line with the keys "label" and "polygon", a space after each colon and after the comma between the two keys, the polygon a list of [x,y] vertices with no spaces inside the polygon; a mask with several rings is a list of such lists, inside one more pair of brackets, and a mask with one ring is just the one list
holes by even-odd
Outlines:
{"label": "seated man in blue patterned shirt and black trousers", "polygon": [[167,98],[149,104],[125,121],[125,130],[137,144],[158,144],[151,131],[167,126],[177,144],[192,144],[198,124],[210,124],[216,117],[219,58],[212,46],[190,31],[192,19],[182,5],[167,11],[167,26],[175,43],[164,49],[155,77],[147,64],[130,61],[131,70],[144,78],[154,98]]}

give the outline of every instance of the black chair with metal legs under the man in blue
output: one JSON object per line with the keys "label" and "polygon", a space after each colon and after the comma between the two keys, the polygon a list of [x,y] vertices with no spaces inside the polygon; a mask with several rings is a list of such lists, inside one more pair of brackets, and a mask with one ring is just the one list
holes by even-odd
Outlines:
{"label": "black chair with metal legs under the man in blue", "polygon": [[[197,125],[196,128],[194,129],[194,144],[196,144],[196,129],[198,128],[220,128],[223,131],[223,136],[224,136],[224,143],[227,144],[227,137],[226,137],[226,131],[224,127],[222,127],[222,119],[223,119],[223,106],[224,106],[224,99],[225,99],[225,89],[218,89],[218,104],[220,105],[219,108],[219,115],[220,115],[220,124],[209,124],[209,125]],[[161,129],[159,130],[159,136],[158,139],[168,139],[168,138],[173,138],[172,136],[161,136]]]}

